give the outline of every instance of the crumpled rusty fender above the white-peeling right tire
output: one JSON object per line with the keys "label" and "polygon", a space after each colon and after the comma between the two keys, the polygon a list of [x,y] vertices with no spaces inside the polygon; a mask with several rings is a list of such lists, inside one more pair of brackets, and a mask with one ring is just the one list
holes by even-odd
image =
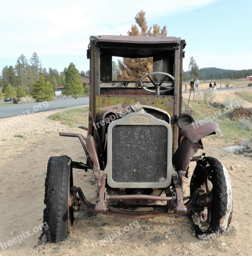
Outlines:
{"label": "crumpled rusty fender above the white-peeling right tire", "polygon": [[185,176],[187,177],[192,157],[200,148],[203,149],[201,139],[216,134],[216,132],[223,137],[219,124],[211,120],[200,120],[186,125],[179,133],[179,146],[172,157],[172,164],[176,172],[186,171]]}

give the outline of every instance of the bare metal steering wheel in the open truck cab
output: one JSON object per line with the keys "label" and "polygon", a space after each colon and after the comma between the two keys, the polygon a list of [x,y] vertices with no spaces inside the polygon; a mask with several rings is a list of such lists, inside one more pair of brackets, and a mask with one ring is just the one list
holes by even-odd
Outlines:
{"label": "bare metal steering wheel in the open truck cab", "polygon": [[[155,82],[150,78],[151,75],[163,75],[163,76],[165,76],[165,77],[163,78],[163,80],[162,80],[161,82],[159,82],[159,83],[156,82],[156,83],[155,83]],[[150,89],[148,89],[148,86],[143,85],[143,79],[145,79],[145,77],[148,77],[148,79],[150,79],[151,83],[154,84],[156,90],[150,90]],[[148,74],[142,76],[142,78],[141,78],[140,81],[139,81],[139,84],[141,85],[141,87],[142,87],[144,90],[146,90],[146,91],[148,91],[148,92],[150,92],[150,93],[156,93],[156,95],[159,95],[159,93],[160,93],[160,86],[161,86],[161,84],[165,81],[166,77],[170,77],[170,78],[172,79],[172,81],[174,82],[174,77],[171,76],[171,75],[168,74],[168,73],[164,73],[164,72],[153,72],[153,73],[148,73]],[[162,90],[161,93],[167,92],[167,91],[171,90],[173,87],[174,87],[174,83],[169,83],[169,85],[168,85],[167,87],[162,87],[162,88],[165,88],[165,90]]]}

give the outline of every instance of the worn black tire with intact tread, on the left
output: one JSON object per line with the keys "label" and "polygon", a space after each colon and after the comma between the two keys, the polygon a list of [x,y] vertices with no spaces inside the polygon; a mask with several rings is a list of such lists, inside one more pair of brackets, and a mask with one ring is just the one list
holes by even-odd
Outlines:
{"label": "worn black tire with intact tread, on the left", "polygon": [[73,211],[69,207],[72,186],[71,158],[66,155],[50,157],[45,181],[46,208],[43,211],[43,233],[50,242],[56,243],[66,239],[69,227],[73,225]]}

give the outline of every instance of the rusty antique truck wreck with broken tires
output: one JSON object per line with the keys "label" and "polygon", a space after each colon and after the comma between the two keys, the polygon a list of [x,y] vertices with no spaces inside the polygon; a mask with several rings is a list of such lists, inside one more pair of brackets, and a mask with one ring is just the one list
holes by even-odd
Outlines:
{"label": "rusty antique truck wreck with broken tires", "polygon": [[[79,210],[125,218],[189,212],[201,239],[228,229],[228,172],[214,157],[195,155],[203,149],[202,138],[222,135],[219,125],[194,122],[190,114],[181,113],[185,44],[177,37],[90,37],[89,125],[81,127],[87,137],[60,133],[78,137],[87,163],[66,155],[49,159],[43,212],[49,241],[67,238]],[[113,61],[118,60],[123,68],[116,76]],[[191,161],[197,164],[185,197],[183,181]],[[93,171],[96,204],[74,186],[76,168]]]}

